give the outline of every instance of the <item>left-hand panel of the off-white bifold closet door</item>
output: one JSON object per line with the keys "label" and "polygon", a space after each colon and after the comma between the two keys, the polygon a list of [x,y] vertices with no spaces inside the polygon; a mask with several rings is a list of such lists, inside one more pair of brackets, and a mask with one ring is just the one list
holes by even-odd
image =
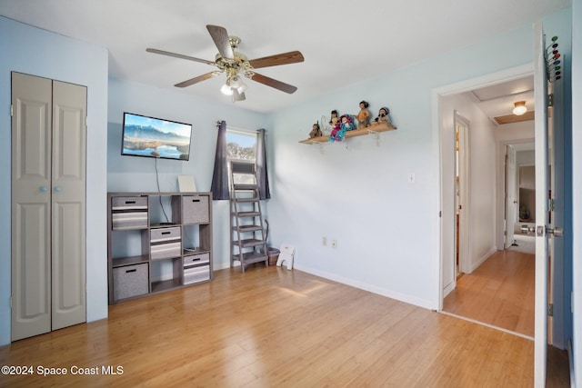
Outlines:
{"label": "left-hand panel of the off-white bifold closet door", "polygon": [[12,340],[51,330],[52,81],[12,76]]}

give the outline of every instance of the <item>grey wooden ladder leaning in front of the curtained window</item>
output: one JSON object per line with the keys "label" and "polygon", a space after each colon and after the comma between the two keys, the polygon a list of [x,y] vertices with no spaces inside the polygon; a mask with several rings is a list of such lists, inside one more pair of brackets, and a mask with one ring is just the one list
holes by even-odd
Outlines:
{"label": "grey wooden ladder leaning in front of the curtained window", "polygon": [[248,162],[230,162],[230,266],[265,262],[266,236],[256,181],[256,166]]}

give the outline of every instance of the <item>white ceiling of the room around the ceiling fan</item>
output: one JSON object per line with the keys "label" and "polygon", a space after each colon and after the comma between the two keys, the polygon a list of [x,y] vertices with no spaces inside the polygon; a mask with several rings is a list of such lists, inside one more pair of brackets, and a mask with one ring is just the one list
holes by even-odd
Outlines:
{"label": "white ceiling of the room around the ceiling fan", "polygon": [[[271,112],[363,79],[533,23],[570,0],[0,0],[0,15],[109,50],[111,76],[230,104],[223,77],[177,89],[214,70],[146,53],[147,47],[214,61],[206,25],[239,36],[249,59],[299,50],[305,62],[260,69],[293,95],[248,81],[240,107]],[[500,59],[501,60],[501,59]]]}

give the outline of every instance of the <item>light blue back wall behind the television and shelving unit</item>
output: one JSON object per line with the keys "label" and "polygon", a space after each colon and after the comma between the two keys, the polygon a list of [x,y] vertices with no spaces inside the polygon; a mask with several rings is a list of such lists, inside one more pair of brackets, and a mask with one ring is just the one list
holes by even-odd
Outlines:
{"label": "light blue back wall behind the television and shelving unit", "polygon": [[[195,87],[195,86],[193,86]],[[198,191],[210,191],[216,153],[216,122],[256,130],[265,127],[265,115],[239,108],[236,104],[216,104],[185,93],[159,89],[119,79],[109,80],[107,124],[107,190],[111,192],[156,192],[155,159],[122,156],[123,113],[131,112],[193,124],[190,160],[157,161],[160,190],[177,191],[177,175],[195,177]],[[269,128],[266,128],[269,131]],[[226,268],[229,262],[228,201],[213,202],[213,264]]]}

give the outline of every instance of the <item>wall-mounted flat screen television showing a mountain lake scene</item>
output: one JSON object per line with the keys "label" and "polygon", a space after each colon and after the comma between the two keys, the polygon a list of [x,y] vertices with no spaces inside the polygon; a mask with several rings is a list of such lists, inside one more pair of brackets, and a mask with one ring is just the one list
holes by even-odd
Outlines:
{"label": "wall-mounted flat screen television showing a mountain lake scene", "polygon": [[189,160],[192,124],[124,113],[122,155]]}

